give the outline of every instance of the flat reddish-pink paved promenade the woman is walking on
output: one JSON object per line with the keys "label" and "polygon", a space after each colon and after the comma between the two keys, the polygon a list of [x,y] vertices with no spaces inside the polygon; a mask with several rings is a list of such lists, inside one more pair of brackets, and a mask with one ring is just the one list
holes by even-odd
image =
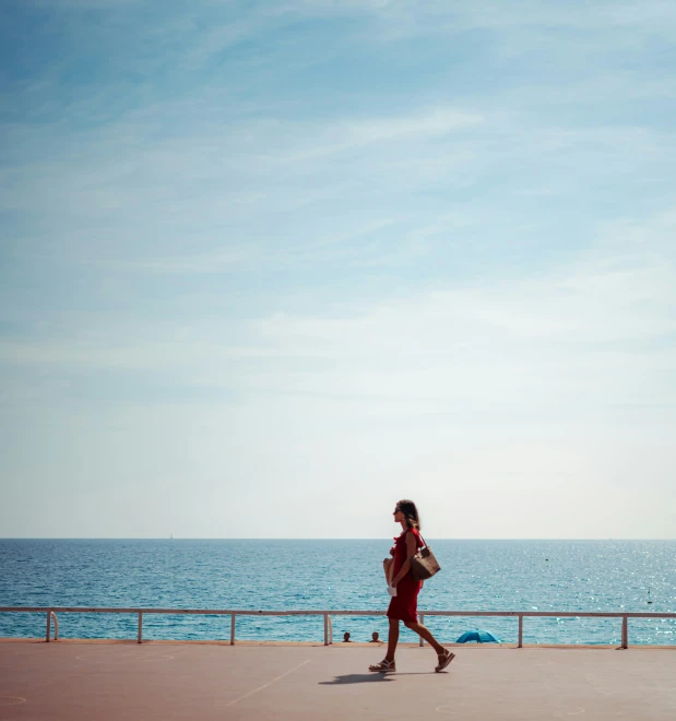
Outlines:
{"label": "flat reddish-pink paved promenade the woman is walking on", "polygon": [[676,719],[673,649],[0,641],[0,719]]}

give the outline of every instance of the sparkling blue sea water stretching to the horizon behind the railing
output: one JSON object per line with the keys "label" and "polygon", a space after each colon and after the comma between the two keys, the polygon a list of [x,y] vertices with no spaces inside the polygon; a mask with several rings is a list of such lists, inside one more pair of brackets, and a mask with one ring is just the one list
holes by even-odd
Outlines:
{"label": "sparkling blue sea water stretching to the horizon behind the railing", "polygon": [[[429,540],[442,570],[418,608],[676,611],[675,541]],[[391,540],[0,540],[0,606],[384,610]],[[648,589],[653,603],[648,604]],[[334,617],[366,641],[384,617]],[[514,642],[515,618],[426,618],[442,642],[486,628]],[[524,619],[525,643],[619,643],[620,619]],[[229,639],[229,616],[146,615],[146,639]],[[39,637],[45,615],[0,613],[0,637]],[[59,614],[62,638],[135,638],[132,614]],[[241,640],[323,638],[321,616],[238,617]],[[402,627],[402,641],[417,636]],[[629,619],[630,643],[673,645],[676,619]]]}

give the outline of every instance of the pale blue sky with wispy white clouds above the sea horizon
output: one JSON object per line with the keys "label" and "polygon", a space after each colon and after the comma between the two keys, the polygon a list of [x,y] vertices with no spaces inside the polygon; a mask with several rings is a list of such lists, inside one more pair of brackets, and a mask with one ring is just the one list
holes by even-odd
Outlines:
{"label": "pale blue sky with wispy white clouds above the sea horizon", "polygon": [[675,36],[4,0],[0,537],[676,537]]}

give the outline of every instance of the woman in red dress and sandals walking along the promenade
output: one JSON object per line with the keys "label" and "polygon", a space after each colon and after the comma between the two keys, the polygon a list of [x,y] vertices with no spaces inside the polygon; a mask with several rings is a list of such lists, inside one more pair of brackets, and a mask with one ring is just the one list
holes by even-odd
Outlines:
{"label": "woman in red dress and sandals walking along the promenade", "polygon": [[[392,673],[396,671],[394,652],[399,641],[399,622],[403,620],[406,628],[411,628],[424,638],[437,652],[439,663],[435,671],[443,671],[455,658],[448,649],[444,649],[430,634],[429,629],[418,623],[418,593],[423,586],[416,581],[411,574],[411,558],[415,556],[418,548],[425,544],[420,539],[420,519],[418,509],[412,500],[400,500],[394,508],[394,522],[402,524],[402,534],[394,539],[394,558],[386,559],[386,578],[391,587],[396,589],[396,595],[392,596],[388,608],[390,619],[390,634],[388,637],[388,652],[380,663],[369,666],[369,671],[380,673]],[[392,551],[390,553],[392,553]]]}

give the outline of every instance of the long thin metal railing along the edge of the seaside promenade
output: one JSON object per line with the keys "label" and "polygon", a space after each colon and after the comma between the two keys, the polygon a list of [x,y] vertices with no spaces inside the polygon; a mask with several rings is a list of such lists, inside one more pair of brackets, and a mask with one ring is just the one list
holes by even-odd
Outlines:
{"label": "long thin metal railing along the edge of the seaside promenade", "polygon": [[[131,613],[139,616],[139,630],[137,640],[143,642],[143,615],[144,614],[168,614],[168,615],[207,615],[230,616],[230,646],[236,641],[237,616],[323,616],[324,620],[324,646],[333,643],[332,616],[384,616],[384,611],[247,611],[241,608],[88,608],[83,606],[73,607],[46,607],[46,606],[0,606],[0,613],[46,613],[47,634],[45,640],[50,641],[50,625],[54,619],[55,636],[58,639],[59,624],[57,613]],[[629,648],[629,618],[676,618],[676,613],[642,613],[642,612],[582,612],[582,611],[423,611],[418,614],[419,622],[425,622],[425,616],[509,616],[519,619],[519,643],[523,648],[523,619],[529,618],[621,618],[621,648]],[[420,638],[420,646],[424,646]]]}

